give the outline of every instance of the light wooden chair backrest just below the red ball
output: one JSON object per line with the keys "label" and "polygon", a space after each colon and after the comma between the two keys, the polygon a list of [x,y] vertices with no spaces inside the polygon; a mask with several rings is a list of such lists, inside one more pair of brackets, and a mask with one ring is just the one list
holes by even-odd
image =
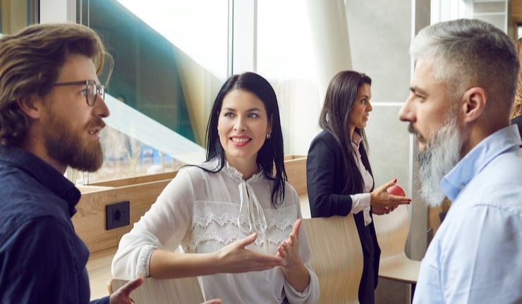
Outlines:
{"label": "light wooden chair backrest just below the red ball", "polygon": [[381,262],[388,258],[406,255],[406,239],[410,229],[408,207],[401,205],[386,215],[374,215],[375,233],[381,248]]}

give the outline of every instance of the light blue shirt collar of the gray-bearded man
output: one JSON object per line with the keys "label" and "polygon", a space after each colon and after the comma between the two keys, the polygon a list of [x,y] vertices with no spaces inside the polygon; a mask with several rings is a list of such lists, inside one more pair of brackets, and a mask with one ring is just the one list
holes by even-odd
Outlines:
{"label": "light blue shirt collar of the gray-bearded man", "polygon": [[500,154],[518,149],[521,145],[520,134],[515,125],[502,128],[488,136],[468,152],[449,173],[442,178],[442,190],[449,200],[453,201],[461,190]]}

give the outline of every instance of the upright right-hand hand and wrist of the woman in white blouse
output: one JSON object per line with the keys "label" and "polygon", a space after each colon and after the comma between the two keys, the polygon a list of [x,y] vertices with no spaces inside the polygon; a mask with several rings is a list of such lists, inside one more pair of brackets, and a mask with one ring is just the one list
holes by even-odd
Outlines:
{"label": "upright right-hand hand and wrist of the woman in white blouse", "polygon": [[282,269],[286,281],[296,291],[302,292],[310,283],[310,274],[299,255],[299,231],[301,231],[301,219],[293,224],[289,238],[279,245],[276,256],[282,257],[285,261],[286,265]]}

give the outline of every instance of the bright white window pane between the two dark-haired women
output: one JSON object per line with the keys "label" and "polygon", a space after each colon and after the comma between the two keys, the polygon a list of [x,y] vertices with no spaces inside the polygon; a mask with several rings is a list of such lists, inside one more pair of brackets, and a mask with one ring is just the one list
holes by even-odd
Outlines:
{"label": "bright white window pane between the two dark-haired women", "polygon": [[285,153],[308,152],[310,134],[318,132],[322,97],[306,1],[257,1],[257,73],[276,91]]}

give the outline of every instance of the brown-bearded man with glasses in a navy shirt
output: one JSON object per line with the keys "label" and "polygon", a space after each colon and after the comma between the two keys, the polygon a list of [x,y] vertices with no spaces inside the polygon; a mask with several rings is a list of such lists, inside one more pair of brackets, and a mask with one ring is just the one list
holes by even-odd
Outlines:
{"label": "brown-bearded man with glasses in a navy shirt", "polygon": [[[89,251],[71,222],[80,191],[63,174],[102,166],[104,56],[99,36],[74,23],[0,39],[0,303],[90,300]],[[131,303],[142,281],[96,302]]]}

